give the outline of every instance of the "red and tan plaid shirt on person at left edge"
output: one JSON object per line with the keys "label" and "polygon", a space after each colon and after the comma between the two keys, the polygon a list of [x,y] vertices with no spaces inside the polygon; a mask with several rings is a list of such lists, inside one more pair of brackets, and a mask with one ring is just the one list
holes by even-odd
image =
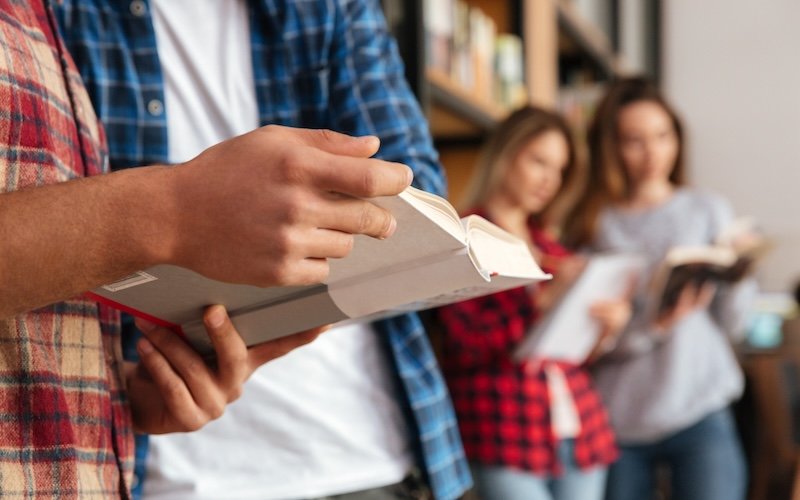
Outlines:
{"label": "red and tan plaid shirt on person at left edge", "polygon": [[[41,0],[0,0],[0,193],[106,168],[103,131],[54,22]],[[94,302],[0,318],[0,496],[128,495],[121,359],[119,317]]]}

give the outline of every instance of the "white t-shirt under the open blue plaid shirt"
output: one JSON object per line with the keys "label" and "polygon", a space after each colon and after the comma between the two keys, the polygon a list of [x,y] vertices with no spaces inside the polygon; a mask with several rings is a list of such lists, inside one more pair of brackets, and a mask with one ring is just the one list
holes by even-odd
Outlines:
{"label": "white t-shirt under the open blue plaid shirt", "polygon": [[[258,126],[244,0],[153,0],[170,161]],[[332,329],[262,366],[225,415],[153,436],[148,498],[302,498],[400,481],[409,429],[380,339]]]}

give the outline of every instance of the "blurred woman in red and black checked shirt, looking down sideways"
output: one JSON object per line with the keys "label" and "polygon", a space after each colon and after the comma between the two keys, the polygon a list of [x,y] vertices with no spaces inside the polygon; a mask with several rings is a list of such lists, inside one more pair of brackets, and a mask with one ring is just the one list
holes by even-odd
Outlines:
{"label": "blurred woman in red and black checked shirt, looking down sideways", "polygon": [[[563,119],[527,107],[484,148],[469,212],[526,241],[554,281],[581,260],[548,232],[551,210],[580,184]],[[512,353],[553,302],[553,284],[517,288],[441,308],[442,365],[476,489],[484,500],[599,500],[617,449],[606,411],[583,366]],[[596,304],[604,331],[620,330],[627,301]]]}

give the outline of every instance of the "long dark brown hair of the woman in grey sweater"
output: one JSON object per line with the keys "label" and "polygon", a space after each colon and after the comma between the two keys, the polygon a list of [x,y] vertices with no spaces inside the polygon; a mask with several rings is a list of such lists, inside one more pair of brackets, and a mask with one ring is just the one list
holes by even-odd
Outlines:
{"label": "long dark brown hair of the woman in grey sweater", "polygon": [[656,103],[670,116],[678,138],[678,154],[669,180],[674,185],[685,183],[683,124],[675,110],[658,87],[645,78],[624,78],[614,82],[600,100],[589,126],[589,186],[567,217],[565,239],[568,245],[580,247],[594,241],[600,212],[630,196],[630,180],[620,158],[617,121],[622,108],[642,101]]}

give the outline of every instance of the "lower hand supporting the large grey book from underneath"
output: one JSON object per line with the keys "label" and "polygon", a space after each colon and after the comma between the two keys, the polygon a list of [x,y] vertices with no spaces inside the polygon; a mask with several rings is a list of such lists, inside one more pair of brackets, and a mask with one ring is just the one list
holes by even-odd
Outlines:
{"label": "lower hand supporting the large grey book from underneath", "polygon": [[219,418],[242,393],[256,368],[314,340],[323,329],[309,330],[248,349],[225,308],[212,306],[203,318],[216,350],[205,361],[174,332],[137,320],[144,333],[138,364],[126,365],[134,427],[163,434],[192,431]]}

